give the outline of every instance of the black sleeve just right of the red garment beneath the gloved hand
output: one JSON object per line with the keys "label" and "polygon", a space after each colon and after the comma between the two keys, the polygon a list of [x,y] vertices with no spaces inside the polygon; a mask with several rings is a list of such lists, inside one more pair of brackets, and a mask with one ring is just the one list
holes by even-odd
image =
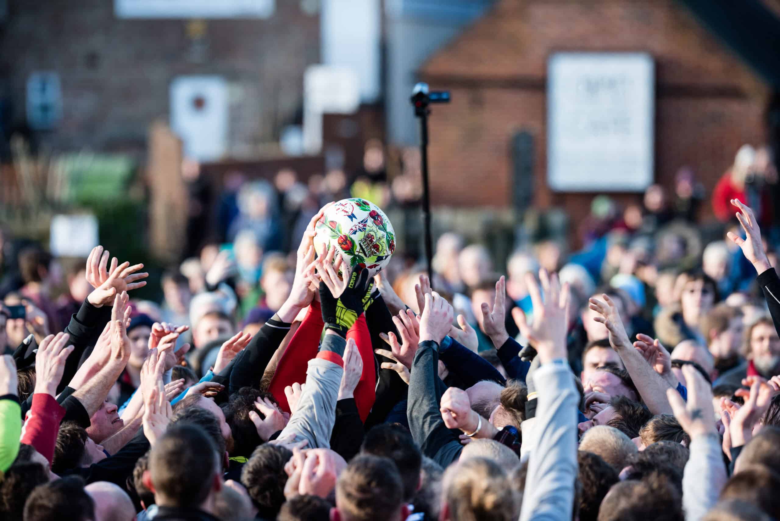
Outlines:
{"label": "black sleeve just right of the red garment beneath the gloved hand", "polygon": [[[388,310],[385,299],[382,299],[381,296],[374,299],[374,303],[366,310],[366,324],[368,331],[371,333],[372,349],[390,349],[390,346],[379,337],[379,334],[392,331],[395,335],[398,335],[398,330],[395,329],[392,314]],[[381,367],[382,362],[392,362],[392,360],[379,355],[374,355],[374,360],[378,362],[377,367]],[[384,422],[392,408],[395,407],[395,404],[406,398],[408,390],[409,386],[394,370],[379,369],[377,373],[376,399],[374,399],[371,413],[366,418],[366,428],[370,429],[374,425]]]}

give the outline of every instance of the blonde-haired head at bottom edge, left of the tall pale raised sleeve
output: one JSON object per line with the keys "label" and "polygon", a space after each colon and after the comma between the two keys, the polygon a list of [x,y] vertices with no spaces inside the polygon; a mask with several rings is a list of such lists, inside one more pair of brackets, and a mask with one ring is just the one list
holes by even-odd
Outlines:
{"label": "blonde-haired head at bottom edge, left of the tall pale raised sleeve", "polygon": [[517,493],[492,459],[474,457],[450,466],[442,488],[452,521],[511,521],[519,516]]}

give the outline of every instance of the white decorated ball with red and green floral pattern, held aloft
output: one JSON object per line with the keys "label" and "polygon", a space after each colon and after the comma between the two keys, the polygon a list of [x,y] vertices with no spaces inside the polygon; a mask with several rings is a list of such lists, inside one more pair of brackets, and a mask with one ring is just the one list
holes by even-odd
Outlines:
{"label": "white decorated ball with red and green floral pattern, held aloft", "polygon": [[314,247],[336,246],[350,269],[360,265],[373,277],[390,262],[395,232],[385,212],[365,199],[342,199],[317,222]]}

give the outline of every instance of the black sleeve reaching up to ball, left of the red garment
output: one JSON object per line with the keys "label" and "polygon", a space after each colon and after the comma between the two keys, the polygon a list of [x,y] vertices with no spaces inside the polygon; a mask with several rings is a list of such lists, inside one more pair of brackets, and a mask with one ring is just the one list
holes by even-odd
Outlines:
{"label": "black sleeve reaching up to ball, left of the red garment", "polygon": [[252,337],[249,345],[243,352],[236,356],[236,365],[230,374],[230,393],[238,391],[242,387],[251,385],[257,387],[263,377],[268,362],[276,353],[276,349],[282,344],[290,325],[285,322],[269,320],[257,335]]}

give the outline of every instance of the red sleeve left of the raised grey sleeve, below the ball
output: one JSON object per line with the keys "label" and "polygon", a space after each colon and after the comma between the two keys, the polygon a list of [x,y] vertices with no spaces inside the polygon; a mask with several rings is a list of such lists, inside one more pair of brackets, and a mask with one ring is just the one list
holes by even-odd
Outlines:
{"label": "red sleeve left of the raised grey sleeve, below the ball", "polygon": [[279,402],[279,407],[286,413],[290,412],[290,406],[285,396],[285,387],[296,382],[303,384],[306,381],[309,360],[317,356],[324,327],[320,303],[314,300],[309,306],[306,317],[303,317],[303,322],[290,339],[282,358],[279,359],[274,377],[271,378],[271,385],[268,385],[268,392],[274,396]]}

